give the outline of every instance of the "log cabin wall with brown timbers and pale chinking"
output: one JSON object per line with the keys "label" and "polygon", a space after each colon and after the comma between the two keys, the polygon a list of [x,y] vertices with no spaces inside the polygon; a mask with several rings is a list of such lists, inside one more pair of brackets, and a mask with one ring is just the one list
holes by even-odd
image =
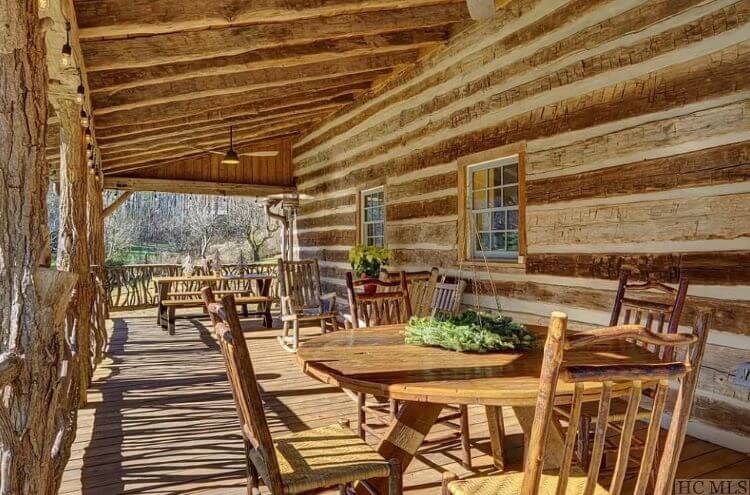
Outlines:
{"label": "log cabin wall with brown timbers and pale chinking", "polygon": [[747,450],[734,374],[750,361],[749,14],[732,0],[510,3],[295,144],[313,197],[299,255],[343,293],[358,194],[383,185],[393,268],[455,270],[461,160],[524,149],[525,260],[492,266],[503,309],[606,324],[620,266],[682,271],[682,323],[716,310],[693,434]]}

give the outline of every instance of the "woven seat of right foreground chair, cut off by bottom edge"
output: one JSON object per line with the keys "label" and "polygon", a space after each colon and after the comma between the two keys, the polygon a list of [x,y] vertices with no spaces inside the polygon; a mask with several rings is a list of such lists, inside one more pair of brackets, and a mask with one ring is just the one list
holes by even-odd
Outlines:
{"label": "woven seat of right foreground chair, cut off by bottom edge", "polygon": [[[448,484],[448,491],[452,495],[517,495],[521,493],[523,473],[508,473],[481,478],[468,478],[452,481]],[[579,495],[586,487],[586,474],[579,470],[572,470],[568,478],[566,495]],[[557,492],[557,471],[542,473],[537,495],[555,495]],[[600,485],[594,488],[594,495],[607,495],[607,490]]]}

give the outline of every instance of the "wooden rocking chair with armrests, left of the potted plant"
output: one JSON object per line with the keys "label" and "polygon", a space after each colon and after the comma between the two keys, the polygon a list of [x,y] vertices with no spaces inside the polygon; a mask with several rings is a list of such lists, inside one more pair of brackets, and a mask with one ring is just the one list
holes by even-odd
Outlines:
{"label": "wooden rocking chair with armrests, left of the potted plant", "polygon": [[[281,294],[281,346],[297,352],[301,324],[316,323],[322,333],[338,329],[336,293],[323,294],[318,260],[278,261]],[[289,335],[291,325],[292,335]]]}

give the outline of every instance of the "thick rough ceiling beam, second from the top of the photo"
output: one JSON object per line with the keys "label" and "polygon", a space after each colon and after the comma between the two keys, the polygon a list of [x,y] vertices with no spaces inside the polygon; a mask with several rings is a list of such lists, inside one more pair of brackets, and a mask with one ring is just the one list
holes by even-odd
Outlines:
{"label": "thick rough ceiling beam, second from the top of the photo", "polygon": [[[153,4],[153,2],[149,2]],[[185,2],[181,2],[182,5]],[[466,4],[448,3],[359,14],[268,22],[200,31],[83,41],[89,70],[146,67],[327,38],[442,26],[469,18]]]}

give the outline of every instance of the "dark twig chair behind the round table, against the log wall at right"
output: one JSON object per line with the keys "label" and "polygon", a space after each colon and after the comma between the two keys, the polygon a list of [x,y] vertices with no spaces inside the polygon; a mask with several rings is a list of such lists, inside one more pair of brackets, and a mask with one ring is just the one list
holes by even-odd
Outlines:
{"label": "dark twig chair behind the round table, against the log wall at right", "polygon": [[[629,275],[630,273],[628,270],[622,270],[620,272],[615,303],[609,321],[610,326],[618,324],[636,324],[642,325],[645,328],[658,333],[676,333],[677,327],[680,323],[680,316],[682,315],[682,308],[687,296],[687,278],[680,277],[679,284],[675,289],[657,281],[653,277],[649,277],[646,282],[629,282]],[[651,294],[650,298],[649,294]],[[660,297],[661,300],[655,301],[653,299],[654,296]],[[649,345],[645,342],[638,342],[638,344],[644,346]],[[653,345],[650,345],[650,348],[661,355],[665,360],[671,360],[673,357],[673,347],[655,348]],[[646,393],[650,394],[652,391],[647,390]],[[622,422],[625,419],[626,411],[627,402],[624,399],[614,399],[609,411],[608,427],[620,431]],[[566,414],[566,411],[560,412],[563,415]],[[636,418],[639,421],[648,421],[650,415],[651,411],[645,408],[640,408],[636,414]],[[587,403],[583,405],[580,421],[578,456],[582,464],[585,467],[588,467],[591,455],[591,439],[594,435],[594,429],[597,422],[596,404]],[[636,443],[638,443],[638,441],[636,441]],[[656,448],[658,457],[658,444]],[[616,451],[616,443],[610,443],[607,445],[604,456],[605,463],[606,453]],[[652,478],[655,479],[655,476],[656,472],[654,471]]]}

